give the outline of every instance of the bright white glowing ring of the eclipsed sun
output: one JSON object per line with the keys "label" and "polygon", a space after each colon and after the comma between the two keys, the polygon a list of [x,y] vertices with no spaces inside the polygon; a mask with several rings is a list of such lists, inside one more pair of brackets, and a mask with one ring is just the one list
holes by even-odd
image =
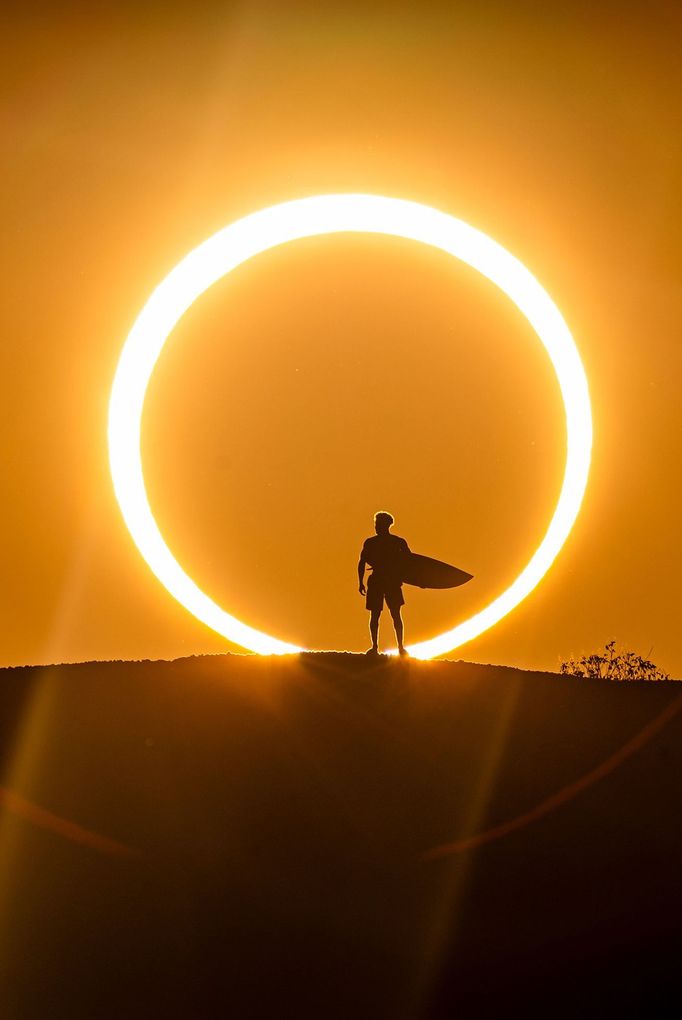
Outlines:
{"label": "bright white glowing ring of the eclipsed sun", "polygon": [[587,379],[561,312],[535,277],[496,242],[437,209],[378,195],[319,195],[255,212],[190,252],[156,288],[123,346],[109,403],[109,461],[116,498],[138,549],[161,583],[224,638],[264,655],[302,649],[247,626],[202,592],[175,560],[154,520],[142,470],[147,387],[166,338],[204,291],[242,262],[287,241],[322,234],[387,234],[439,248],[477,269],[523,312],[552,359],[566,410],[566,470],[547,530],[516,580],[452,630],[410,647],[430,659],[483,633],[529,595],[564,545],[587,483],[592,418]]}

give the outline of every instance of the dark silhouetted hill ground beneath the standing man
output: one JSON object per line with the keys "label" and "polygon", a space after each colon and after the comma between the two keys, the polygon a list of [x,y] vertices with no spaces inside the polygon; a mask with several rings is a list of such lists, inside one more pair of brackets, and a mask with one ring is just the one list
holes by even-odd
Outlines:
{"label": "dark silhouetted hill ground beneath the standing man", "polygon": [[652,1015],[681,698],[335,654],[0,670],[0,1015]]}

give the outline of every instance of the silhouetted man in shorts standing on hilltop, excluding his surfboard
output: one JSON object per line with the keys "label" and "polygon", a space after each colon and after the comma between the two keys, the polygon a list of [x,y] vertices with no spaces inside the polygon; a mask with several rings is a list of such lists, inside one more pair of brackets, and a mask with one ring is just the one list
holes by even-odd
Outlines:
{"label": "silhouetted man in shorts standing on hilltop, excluding his surfboard", "polygon": [[[385,510],[379,510],[374,514],[376,534],[365,542],[358,563],[360,581],[358,591],[361,595],[367,596],[365,605],[370,612],[369,632],[372,647],[367,650],[367,655],[376,655],[378,652],[379,617],[384,601],[394,621],[398,651],[401,655],[407,655],[403,645],[401,606],[405,603],[402,589],[403,565],[410,554],[410,549],[405,539],[388,533],[394,518]],[[367,578],[365,588],[365,567],[368,565],[372,568],[372,572]]]}

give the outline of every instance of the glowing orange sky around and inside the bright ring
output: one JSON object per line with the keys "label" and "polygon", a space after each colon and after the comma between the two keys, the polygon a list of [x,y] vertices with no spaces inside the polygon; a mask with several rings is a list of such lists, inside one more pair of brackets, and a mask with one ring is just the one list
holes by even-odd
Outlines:
{"label": "glowing orange sky around and inside the bright ring", "polygon": [[[682,675],[676,5],[34,7],[0,42],[0,665],[229,648],[166,595],[115,504],[106,410],[153,287],[254,209],[329,191],[485,231],[564,312],[595,444],[541,585],[458,657],[557,668],[619,642]],[[324,5],[322,5],[324,7]],[[386,508],[471,570],[408,589],[408,640],[481,608],[563,469],[541,345],[472,270],[407,242],[300,242],[178,325],[143,446],[180,562],[230,612],[367,646],[360,545]],[[384,627],[387,623],[384,623]]]}

